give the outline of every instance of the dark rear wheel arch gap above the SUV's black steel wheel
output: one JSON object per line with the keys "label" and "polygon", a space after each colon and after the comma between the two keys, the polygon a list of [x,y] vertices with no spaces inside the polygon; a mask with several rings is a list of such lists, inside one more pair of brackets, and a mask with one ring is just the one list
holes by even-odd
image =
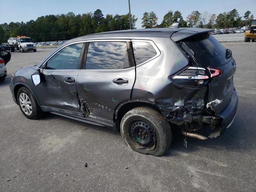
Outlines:
{"label": "dark rear wheel arch gap above the SUV's black steel wheel", "polygon": [[[131,109],[136,108],[136,107],[149,107],[152,108],[158,112],[161,113],[160,109],[153,104],[150,101],[146,101],[146,100],[128,100],[128,101],[124,101],[120,104],[118,104],[118,106],[116,107],[115,111],[114,111],[114,117],[113,120],[114,122],[121,122],[122,117]],[[118,126],[119,129],[119,126]]]}

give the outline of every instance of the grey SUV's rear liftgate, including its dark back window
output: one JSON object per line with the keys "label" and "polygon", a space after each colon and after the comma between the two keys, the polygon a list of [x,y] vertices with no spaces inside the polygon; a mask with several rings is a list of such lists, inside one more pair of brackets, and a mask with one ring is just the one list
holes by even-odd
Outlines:
{"label": "grey SUV's rear liftgate, including its dark back window", "polygon": [[236,70],[236,62],[232,57],[226,56],[226,48],[208,33],[188,37],[184,42],[193,52],[198,64],[203,67],[218,69],[219,76],[214,77],[208,83],[208,96],[206,103],[212,110],[219,114],[228,106],[234,90],[233,76]]}

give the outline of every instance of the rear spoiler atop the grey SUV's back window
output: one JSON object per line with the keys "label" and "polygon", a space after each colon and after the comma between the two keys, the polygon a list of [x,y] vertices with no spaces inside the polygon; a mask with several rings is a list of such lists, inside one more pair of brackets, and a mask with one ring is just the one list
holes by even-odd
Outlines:
{"label": "rear spoiler atop the grey SUV's back window", "polygon": [[204,34],[208,32],[213,32],[214,29],[204,29],[204,28],[184,28],[182,30],[179,30],[177,32],[174,32],[171,35],[171,39],[174,42],[180,41],[182,39],[185,39],[187,37],[197,35],[197,34]]}

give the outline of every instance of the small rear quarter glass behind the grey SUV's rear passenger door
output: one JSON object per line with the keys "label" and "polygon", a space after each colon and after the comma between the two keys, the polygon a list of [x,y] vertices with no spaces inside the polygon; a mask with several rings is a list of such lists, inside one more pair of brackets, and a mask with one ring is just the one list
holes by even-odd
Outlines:
{"label": "small rear quarter glass behind the grey SUV's rear passenger door", "polygon": [[150,60],[156,56],[156,50],[149,42],[132,42],[136,65]]}

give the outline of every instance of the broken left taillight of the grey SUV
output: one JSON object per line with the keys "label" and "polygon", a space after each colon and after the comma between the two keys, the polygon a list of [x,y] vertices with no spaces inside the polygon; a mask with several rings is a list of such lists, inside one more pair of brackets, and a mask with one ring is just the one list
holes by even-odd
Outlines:
{"label": "broken left taillight of the grey SUV", "polygon": [[208,83],[209,76],[205,68],[186,67],[171,77],[179,86],[203,86]]}

